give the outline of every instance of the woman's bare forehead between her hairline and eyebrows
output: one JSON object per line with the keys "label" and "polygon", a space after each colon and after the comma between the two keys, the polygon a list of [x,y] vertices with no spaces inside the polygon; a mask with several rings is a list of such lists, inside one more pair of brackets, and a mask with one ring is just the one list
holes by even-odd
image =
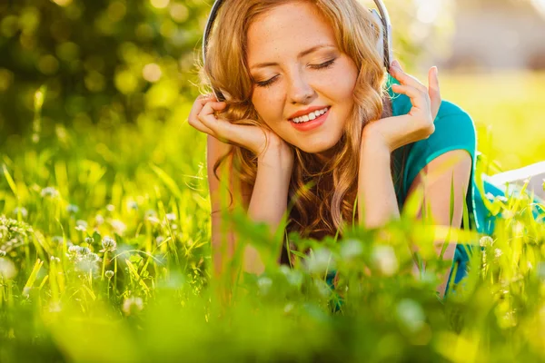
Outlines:
{"label": "woman's bare forehead between her hairline and eyebrows", "polygon": [[253,20],[248,29],[249,64],[272,60],[282,54],[297,55],[318,44],[336,44],[331,25],[308,2],[274,7]]}

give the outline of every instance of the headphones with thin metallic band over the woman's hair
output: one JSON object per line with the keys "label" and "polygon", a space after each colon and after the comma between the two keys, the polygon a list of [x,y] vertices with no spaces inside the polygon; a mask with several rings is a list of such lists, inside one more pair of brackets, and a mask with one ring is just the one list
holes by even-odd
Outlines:
{"label": "headphones with thin metallic band over the woman's hair", "polygon": [[[204,29],[203,64],[206,64],[206,46],[208,45],[208,37],[210,35],[210,32],[212,31],[213,22],[217,16],[218,10],[220,9],[220,6],[223,4],[223,2],[224,0],[215,0],[215,3],[212,6],[210,16],[208,17],[206,28]],[[382,0],[374,0],[374,3],[375,5],[377,5],[379,12],[377,12],[375,9],[369,9],[369,11],[381,27],[381,32],[379,32],[379,40],[377,42],[377,49],[379,50],[379,53],[382,54],[382,61],[384,67],[386,67],[386,71],[390,73],[390,64],[393,61],[393,51],[391,49],[392,42],[390,15],[388,15],[386,5],[382,3]],[[221,93],[219,90],[214,89],[213,93],[215,94],[218,101],[225,101],[223,93]]]}

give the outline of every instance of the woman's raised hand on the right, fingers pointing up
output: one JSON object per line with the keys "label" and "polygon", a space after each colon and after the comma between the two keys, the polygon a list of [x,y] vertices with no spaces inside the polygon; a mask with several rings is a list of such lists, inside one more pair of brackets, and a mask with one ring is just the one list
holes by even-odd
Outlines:
{"label": "woman's raised hand on the right, fingers pointing up", "polygon": [[441,106],[441,93],[435,66],[428,73],[429,87],[405,74],[397,61],[392,62],[390,74],[401,83],[392,84],[392,91],[411,98],[411,111],[367,124],[362,132],[362,145],[366,141],[380,142],[393,152],[408,143],[427,139],[435,131],[433,121]]}

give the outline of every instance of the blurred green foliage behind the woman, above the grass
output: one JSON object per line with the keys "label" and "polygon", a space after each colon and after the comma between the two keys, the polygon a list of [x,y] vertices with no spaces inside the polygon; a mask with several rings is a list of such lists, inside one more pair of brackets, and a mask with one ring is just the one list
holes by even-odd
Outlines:
{"label": "blurred green foliage behind the woman, above the grass", "polygon": [[[0,141],[31,129],[35,90],[45,84],[43,127],[115,128],[176,117],[199,90],[195,61],[213,2],[203,0],[8,0],[0,3]],[[371,1],[363,1],[372,5]],[[391,1],[395,53],[417,62],[423,44],[451,33],[447,5],[433,24],[417,1]],[[447,4],[447,3],[445,3]],[[444,45],[443,45],[444,46]],[[435,51],[441,48],[436,47]],[[75,126],[74,126],[75,127]]]}

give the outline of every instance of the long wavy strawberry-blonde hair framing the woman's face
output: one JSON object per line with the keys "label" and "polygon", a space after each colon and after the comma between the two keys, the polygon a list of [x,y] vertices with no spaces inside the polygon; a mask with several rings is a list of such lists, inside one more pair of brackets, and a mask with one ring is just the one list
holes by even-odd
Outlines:
{"label": "long wavy strawberry-blonde hair framing the woman's face", "polygon": [[[271,130],[251,102],[253,80],[246,57],[247,34],[257,16],[294,1],[309,2],[317,7],[332,26],[341,51],[348,54],[359,69],[352,115],[333,149],[335,156],[324,164],[316,155],[292,146],[295,160],[288,196],[292,208],[287,231],[298,231],[302,237],[321,240],[326,235],[339,233],[342,236],[345,222],[357,221],[354,207],[362,129],[372,120],[391,115],[391,103],[384,87],[387,74],[376,47],[379,27],[368,9],[358,0],[226,0],[209,36],[206,64],[199,68],[203,86],[220,89],[225,95],[227,107],[223,118]],[[249,123],[248,119],[255,122]],[[239,145],[233,145],[231,152],[214,164],[216,177],[219,166],[229,157],[233,157],[233,168],[243,184],[252,188],[257,174],[256,156]],[[397,167],[394,158],[391,160],[395,174]]]}

